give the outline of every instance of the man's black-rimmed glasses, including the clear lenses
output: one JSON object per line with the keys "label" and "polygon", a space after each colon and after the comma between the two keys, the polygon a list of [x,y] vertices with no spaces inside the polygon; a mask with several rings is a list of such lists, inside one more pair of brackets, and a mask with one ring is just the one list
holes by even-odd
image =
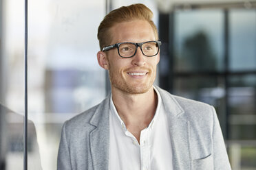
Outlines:
{"label": "man's black-rimmed glasses, including the clear lenses", "polygon": [[109,49],[118,49],[118,54],[121,58],[131,58],[135,56],[138,47],[142,51],[144,56],[153,57],[156,56],[159,52],[159,47],[162,44],[161,41],[151,40],[147,42],[134,43],[134,42],[120,42],[114,45],[109,45],[103,47],[103,51],[108,51]]}

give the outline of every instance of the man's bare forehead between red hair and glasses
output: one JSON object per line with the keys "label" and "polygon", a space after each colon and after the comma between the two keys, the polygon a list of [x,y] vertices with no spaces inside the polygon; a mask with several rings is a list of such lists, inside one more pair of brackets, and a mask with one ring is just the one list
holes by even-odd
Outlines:
{"label": "man's bare forehead between red hair and glasses", "polygon": [[117,23],[110,29],[111,44],[117,42],[145,42],[156,40],[148,21],[134,20]]}

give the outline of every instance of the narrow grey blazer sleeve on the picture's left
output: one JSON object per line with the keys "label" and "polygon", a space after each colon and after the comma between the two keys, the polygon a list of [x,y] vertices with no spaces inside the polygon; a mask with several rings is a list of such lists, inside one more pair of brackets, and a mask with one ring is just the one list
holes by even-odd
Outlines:
{"label": "narrow grey blazer sleeve on the picture's left", "polygon": [[67,143],[67,133],[66,133],[66,122],[63,125],[61,132],[61,142],[58,148],[58,161],[57,170],[70,170],[71,160],[70,160],[70,149]]}

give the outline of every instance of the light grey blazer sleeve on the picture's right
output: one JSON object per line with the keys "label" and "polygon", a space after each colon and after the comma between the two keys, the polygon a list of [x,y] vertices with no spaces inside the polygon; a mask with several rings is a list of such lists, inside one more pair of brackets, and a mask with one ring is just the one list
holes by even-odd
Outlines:
{"label": "light grey blazer sleeve on the picture's right", "polygon": [[213,108],[213,163],[215,170],[229,170],[231,165],[226,153],[224,138],[220,128],[220,122],[217,119],[217,114]]}

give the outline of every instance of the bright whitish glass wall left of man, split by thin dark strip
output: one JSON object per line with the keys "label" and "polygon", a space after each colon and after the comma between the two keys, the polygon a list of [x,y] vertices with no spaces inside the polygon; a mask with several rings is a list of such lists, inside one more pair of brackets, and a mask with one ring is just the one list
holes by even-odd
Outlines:
{"label": "bright whitish glass wall left of man, split by thin dark strip", "polygon": [[[5,106],[8,170],[23,167],[23,1],[5,1]],[[97,30],[105,1],[29,1],[28,169],[56,169],[63,122],[105,97]],[[39,152],[40,151],[40,152]]]}

